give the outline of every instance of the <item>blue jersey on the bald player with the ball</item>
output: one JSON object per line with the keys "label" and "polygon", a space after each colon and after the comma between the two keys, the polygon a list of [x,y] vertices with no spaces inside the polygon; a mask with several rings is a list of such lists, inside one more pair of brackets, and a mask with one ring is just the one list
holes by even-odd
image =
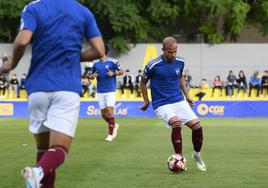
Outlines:
{"label": "blue jersey on the bald player with the ball", "polygon": [[166,62],[162,56],[153,59],[145,66],[143,77],[150,80],[154,110],[184,100],[179,82],[183,68],[182,58],[177,57],[171,62]]}

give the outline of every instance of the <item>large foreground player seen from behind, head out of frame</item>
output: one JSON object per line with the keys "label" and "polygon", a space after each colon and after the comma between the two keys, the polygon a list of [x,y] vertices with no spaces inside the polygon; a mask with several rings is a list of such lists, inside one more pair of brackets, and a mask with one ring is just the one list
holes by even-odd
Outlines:
{"label": "large foreground player seen from behind, head out of frame", "polygon": [[[92,48],[81,52],[83,38]],[[104,55],[94,15],[75,0],[38,0],[22,11],[13,56],[0,72],[14,69],[32,43],[26,80],[29,130],[37,147],[37,163],[22,170],[27,188],[55,187],[55,170],[70,150],[80,109],[81,65]]]}

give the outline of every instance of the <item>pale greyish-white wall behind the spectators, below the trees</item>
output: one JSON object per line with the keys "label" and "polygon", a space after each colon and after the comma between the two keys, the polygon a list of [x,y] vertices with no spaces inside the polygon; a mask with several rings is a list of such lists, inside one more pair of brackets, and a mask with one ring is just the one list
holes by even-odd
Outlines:
{"label": "pale greyish-white wall behind the spectators, below the trees", "polygon": [[[144,57],[149,44],[137,44],[125,55],[117,58],[123,69],[130,69],[132,75],[143,67]],[[162,53],[161,44],[150,44],[156,49],[157,55]],[[11,54],[11,44],[1,44],[0,53]],[[113,54],[113,53],[112,53]],[[244,70],[249,76],[256,69],[262,72],[268,70],[268,45],[267,44],[179,44],[178,54],[184,57],[186,68],[190,69],[194,84],[199,83],[202,78],[212,81],[215,75],[220,75],[222,80],[226,80],[229,70],[233,70],[237,75],[239,70]],[[31,55],[30,48],[19,66],[14,70],[20,77],[27,72]],[[83,65],[82,65],[83,66]]]}

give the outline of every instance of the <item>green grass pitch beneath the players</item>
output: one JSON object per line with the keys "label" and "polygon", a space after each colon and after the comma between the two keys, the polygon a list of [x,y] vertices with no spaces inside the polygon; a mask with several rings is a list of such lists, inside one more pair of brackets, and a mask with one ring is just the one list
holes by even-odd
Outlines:
{"label": "green grass pitch beneath the players", "polygon": [[[188,170],[173,174],[170,129],[158,119],[118,119],[117,139],[107,143],[101,119],[80,119],[58,188],[264,188],[268,187],[268,119],[201,119],[204,129],[201,172],[190,155],[191,132],[183,128]],[[20,170],[35,161],[28,120],[0,119],[0,188],[21,188]]]}

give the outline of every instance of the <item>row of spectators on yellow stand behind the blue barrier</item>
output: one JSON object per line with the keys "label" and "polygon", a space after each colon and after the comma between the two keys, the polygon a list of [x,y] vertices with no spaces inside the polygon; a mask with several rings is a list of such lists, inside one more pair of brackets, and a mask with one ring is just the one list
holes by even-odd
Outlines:
{"label": "row of spectators on yellow stand behind the blue barrier", "polygon": [[[7,53],[0,57],[4,59]],[[94,99],[96,97],[96,79],[92,78],[93,62],[86,62],[81,76],[83,99]],[[18,77],[19,76],[19,77]],[[26,73],[12,74],[9,78],[7,74],[0,74],[0,99],[27,99],[25,90]],[[189,69],[185,69],[183,76],[186,81],[186,88],[190,95],[196,100],[224,100],[224,99],[257,99],[268,98],[268,70],[261,74],[258,70],[253,70],[249,78],[243,70],[237,75],[232,70],[227,78],[215,75],[214,80],[203,78],[200,84],[192,84],[192,76]],[[142,70],[138,70],[133,76],[131,70],[126,69],[123,76],[117,78],[117,99],[141,100],[139,82],[142,77]]]}

